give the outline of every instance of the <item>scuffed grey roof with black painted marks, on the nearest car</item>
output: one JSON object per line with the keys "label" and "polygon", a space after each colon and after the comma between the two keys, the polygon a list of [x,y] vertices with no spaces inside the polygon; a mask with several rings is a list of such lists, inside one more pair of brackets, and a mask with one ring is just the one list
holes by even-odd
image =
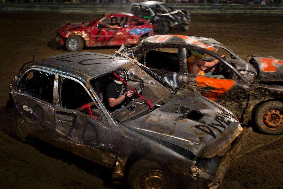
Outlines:
{"label": "scuffed grey roof with black painted marks, on the nearest car", "polygon": [[56,73],[70,75],[88,82],[88,80],[92,78],[111,73],[129,63],[132,63],[132,61],[113,55],[73,52],[42,59],[30,64],[25,70],[30,68],[41,68]]}

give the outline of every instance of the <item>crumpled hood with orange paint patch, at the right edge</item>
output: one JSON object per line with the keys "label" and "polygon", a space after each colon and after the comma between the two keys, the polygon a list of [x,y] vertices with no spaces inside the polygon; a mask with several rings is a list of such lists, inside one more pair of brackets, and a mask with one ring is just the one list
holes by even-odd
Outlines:
{"label": "crumpled hood with orange paint patch, at the right edge", "polygon": [[257,69],[256,81],[283,81],[283,60],[274,57],[253,57],[249,62]]}

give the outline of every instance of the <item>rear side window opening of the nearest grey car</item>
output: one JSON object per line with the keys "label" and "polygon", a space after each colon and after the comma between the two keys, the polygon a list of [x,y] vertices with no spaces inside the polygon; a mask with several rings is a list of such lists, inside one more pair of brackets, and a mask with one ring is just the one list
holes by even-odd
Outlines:
{"label": "rear side window opening of the nearest grey car", "polygon": [[55,74],[39,70],[28,71],[20,81],[19,91],[52,104],[54,79]]}

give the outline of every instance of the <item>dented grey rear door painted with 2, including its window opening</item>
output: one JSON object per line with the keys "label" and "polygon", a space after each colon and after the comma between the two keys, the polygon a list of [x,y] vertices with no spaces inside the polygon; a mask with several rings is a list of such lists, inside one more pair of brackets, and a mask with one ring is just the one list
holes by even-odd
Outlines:
{"label": "dented grey rear door painted with 2, including its window opening", "polygon": [[15,106],[29,125],[29,132],[45,140],[55,131],[53,89],[55,74],[27,70],[13,93]]}

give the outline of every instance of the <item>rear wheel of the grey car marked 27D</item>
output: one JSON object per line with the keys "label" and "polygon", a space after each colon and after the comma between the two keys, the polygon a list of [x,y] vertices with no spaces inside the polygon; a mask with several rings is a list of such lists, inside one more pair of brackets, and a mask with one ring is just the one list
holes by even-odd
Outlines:
{"label": "rear wheel of the grey car marked 27D", "polygon": [[14,130],[19,140],[28,142],[31,138],[26,122],[22,116],[17,116],[14,120]]}

